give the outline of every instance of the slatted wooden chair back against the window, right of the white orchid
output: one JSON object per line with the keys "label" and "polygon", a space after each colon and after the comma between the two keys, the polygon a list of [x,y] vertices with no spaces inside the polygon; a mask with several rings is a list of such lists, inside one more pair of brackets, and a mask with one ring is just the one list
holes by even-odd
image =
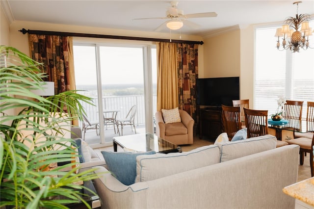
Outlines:
{"label": "slatted wooden chair back against the window, right of the white orchid", "polygon": [[302,107],[303,101],[291,101],[287,100],[284,104],[283,118],[284,119],[302,119]]}

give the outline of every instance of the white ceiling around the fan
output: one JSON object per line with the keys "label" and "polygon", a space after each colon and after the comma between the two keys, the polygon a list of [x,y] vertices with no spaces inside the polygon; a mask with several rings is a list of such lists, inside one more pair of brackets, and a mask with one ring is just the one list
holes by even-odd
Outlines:
{"label": "white ceiling around the fan", "polygon": [[[295,16],[293,0],[181,0],[184,14],[216,12],[217,17],[193,18],[199,29],[183,26],[183,34],[207,35],[238,25],[282,23]],[[95,26],[154,31],[166,20],[132,20],[165,17],[170,0],[1,0],[9,21],[31,21],[78,26]],[[314,15],[314,0],[303,0],[299,14]],[[26,28],[32,29],[32,28]],[[71,32],[71,31],[68,31]],[[169,32],[164,26],[160,32]]]}

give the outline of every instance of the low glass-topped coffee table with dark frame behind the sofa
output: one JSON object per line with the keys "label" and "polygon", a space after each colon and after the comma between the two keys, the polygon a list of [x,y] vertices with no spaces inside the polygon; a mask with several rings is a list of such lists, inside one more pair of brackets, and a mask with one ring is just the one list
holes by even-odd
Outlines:
{"label": "low glass-topped coffee table with dark frame behind the sofa", "polygon": [[118,145],[138,152],[148,152],[155,150],[157,153],[182,153],[182,148],[178,145],[160,138],[152,133],[132,134],[113,137],[113,150],[117,152]]}

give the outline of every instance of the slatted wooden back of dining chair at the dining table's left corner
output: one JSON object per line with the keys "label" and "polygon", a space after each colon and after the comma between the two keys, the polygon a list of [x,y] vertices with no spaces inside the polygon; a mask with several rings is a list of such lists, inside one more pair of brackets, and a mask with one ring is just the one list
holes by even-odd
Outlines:
{"label": "slatted wooden back of dining chair at the dining table's left corner", "polygon": [[243,108],[247,137],[263,136],[268,134],[268,110]]}

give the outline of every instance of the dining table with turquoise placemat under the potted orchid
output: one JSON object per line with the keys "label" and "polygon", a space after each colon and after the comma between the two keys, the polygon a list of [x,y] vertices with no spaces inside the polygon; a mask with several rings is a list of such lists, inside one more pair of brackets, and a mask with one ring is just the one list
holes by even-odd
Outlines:
{"label": "dining table with turquoise placemat under the potted orchid", "polygon": [[280,121],[272,121],[272,119],[268,119],[268,128],[275,129],[277,139],[281,140],[283,130],[300,132],[300,133],[313,132],[314,122],[307,121],[307,120],[285,119],[285,118],[283,118]]}

